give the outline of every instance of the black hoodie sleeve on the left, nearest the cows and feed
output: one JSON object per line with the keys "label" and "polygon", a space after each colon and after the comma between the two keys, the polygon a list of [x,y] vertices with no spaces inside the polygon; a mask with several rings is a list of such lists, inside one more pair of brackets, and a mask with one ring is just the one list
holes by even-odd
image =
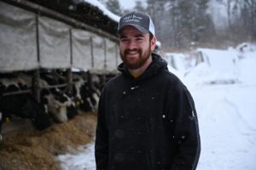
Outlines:
{"label": "black hoodie sleeve on the left, nearest the cows and feed", "polygon": [[99,100],[96,125],[95,158],[96,170],[108,169],[108,128],[106,124],[104,89]]}

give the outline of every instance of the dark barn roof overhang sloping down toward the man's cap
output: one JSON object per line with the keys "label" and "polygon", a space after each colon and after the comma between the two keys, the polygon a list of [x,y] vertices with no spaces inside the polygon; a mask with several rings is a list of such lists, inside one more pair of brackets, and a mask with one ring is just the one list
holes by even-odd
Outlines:
{"label": "dark barn roof overhang sloping down toward the man's cap", "polygon": [[[85,25],[91,26],[117,37],[119,16],[110,12],[102,3],[96,0],[3,0],[22,8],[29,8],[37,14],[48,15],[42,8],[49,8],[57,13],[79,20]],[[44,9],[45,11],[45,9]],[[54,16],[51,16],[54,17]],[[58,17],[60,20],[60,17]],[[63,20],[62,20],[63,21]],[[65,21],[65,20],[64,20]]]}

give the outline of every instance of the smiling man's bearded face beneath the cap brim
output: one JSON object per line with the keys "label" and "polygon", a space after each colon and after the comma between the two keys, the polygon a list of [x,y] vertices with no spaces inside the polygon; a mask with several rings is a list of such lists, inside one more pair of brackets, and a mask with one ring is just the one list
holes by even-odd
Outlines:
{"label": "smiling man's bearded face beneath the cap brim", "polygon": [[119,39],[121,59],[131,70],[141,68],[155,47],[155,38],[149,41],[149,33],[143,34],[133,26],[125,26]]}

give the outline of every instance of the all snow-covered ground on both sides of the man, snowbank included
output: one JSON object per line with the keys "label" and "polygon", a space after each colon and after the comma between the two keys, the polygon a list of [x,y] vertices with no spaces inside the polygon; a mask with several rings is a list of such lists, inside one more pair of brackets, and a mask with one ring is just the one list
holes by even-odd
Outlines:
{"label": "all snow-covered ground on both sides of the man, snowbank included", "polygon": [[[195,99],[201,132],[197,170],[256,169],[256,47],[239,48],[165,54]],[[94,144],[58,159],[63,170],[96,169]]]}

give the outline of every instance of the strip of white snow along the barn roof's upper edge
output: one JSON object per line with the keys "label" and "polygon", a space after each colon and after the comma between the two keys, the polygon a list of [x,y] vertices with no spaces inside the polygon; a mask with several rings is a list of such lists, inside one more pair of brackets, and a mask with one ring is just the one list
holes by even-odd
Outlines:
{"label": "strip of white snow along the barn roof's upper edge", "polygon": [[91,5],[99,8],[102,10],[103,14],[106,14],[110,19],[119,22],[120,16],[113,14],[111,11],[108,10],[102,3],[98,2],[97,0],[84,0],[86,3],[90,3]]}

